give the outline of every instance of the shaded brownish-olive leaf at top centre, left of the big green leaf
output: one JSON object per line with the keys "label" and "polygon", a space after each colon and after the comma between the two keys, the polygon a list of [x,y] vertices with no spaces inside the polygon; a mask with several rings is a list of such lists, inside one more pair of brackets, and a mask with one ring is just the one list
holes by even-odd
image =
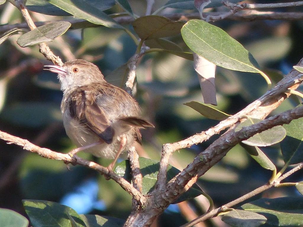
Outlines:
{"label": "shaded brownish-olive leaf at top centre, left of the big green leaf", "polygon": [[181,21],[171,21],[155,15],[140,17],[133,22],[133,27],[142,40],[178,35],[183,25]]}

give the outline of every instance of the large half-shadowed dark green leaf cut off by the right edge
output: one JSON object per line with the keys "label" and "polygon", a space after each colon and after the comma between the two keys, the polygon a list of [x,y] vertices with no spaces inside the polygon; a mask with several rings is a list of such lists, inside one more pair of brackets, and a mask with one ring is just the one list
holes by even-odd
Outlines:
{"label": "large half-shadowed dark green leaf cut off by the right edge", "polygon": [[[297,107],[302,106],[302,104]],[[303,118],[284,124],[286,137],[280,143],[283,160],[288,165],[303,162]]]}

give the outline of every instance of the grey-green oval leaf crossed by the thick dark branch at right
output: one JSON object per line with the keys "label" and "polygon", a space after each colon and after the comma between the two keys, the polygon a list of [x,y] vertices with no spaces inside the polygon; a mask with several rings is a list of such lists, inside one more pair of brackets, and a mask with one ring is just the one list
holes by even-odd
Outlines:
{"label": "grey-green oval leaf crossed by the thick dark branch at right", "polygon": [[[235,128],[235,132],[241,130],[243,127],[251,126],[260,121],[262,120],[248,117],[247,120],[238,124],[238,126]],[[242,141],[242,143],[245,143],[249,146],[270,146],[275,143],[281,142],[285,136],[286,130],[281,125],[278,125],[261,133],[257,133],[253,137],[250,137],[248,140]]]}

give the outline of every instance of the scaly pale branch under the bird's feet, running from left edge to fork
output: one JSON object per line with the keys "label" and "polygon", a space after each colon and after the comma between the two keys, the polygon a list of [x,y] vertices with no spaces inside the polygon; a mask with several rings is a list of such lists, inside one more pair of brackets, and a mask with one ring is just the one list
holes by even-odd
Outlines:
{"label": "scaly pale branch under the bird's feet, running from left edge to fork", "polygon": [[109,171],[108,168],[100,166],[97,163],[84,160],[78,156],[71,157],[68,154],[58,153],[47,148],[41,148],[33,143],[30,143],[28,140],[12,136],[8,133],[0,131],[0,139],[7,141],[9,144],[14,143],[18,146],[22,146],[23,149],[37,153],[38,155],[55,160],[62,160],[66,163],[72,163],[73,165],[87,166],[91,169],[97,170],[99,173],[103,174],[105,177],[113,179],[117,182],[125,191],[127,191],[131,196],[133,196],[141,204],[145,202],[145,196],[142,195],[137,189],[135,189],[127,180],[118,176],[116,173]]}

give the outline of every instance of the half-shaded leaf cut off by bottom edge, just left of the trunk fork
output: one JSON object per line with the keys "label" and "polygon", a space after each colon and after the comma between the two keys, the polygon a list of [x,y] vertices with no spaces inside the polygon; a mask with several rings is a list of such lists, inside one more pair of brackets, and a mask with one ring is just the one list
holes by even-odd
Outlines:
{"label": "half-shaded leaf cut off by bottom edge, just left of the trunk fork", "polygon": [[108,217],[108,216],[100,216],[100,215],[92,215],[92,214],[80,214],[81,219],[84,221],[87,227],[122,227],[124,225],[125,220]]}

